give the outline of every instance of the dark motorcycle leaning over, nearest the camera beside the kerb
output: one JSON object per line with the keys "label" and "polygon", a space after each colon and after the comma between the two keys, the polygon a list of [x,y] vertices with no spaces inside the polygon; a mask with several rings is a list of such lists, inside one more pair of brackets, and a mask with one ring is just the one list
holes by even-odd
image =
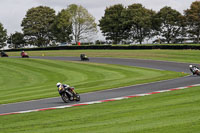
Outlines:
{"label": "dark motorcycle leaning over, nearest the camera beside the kerb", "polygon": [[58,91],[65,103],[70,101],[80,101],[80,95],[74,90],[74,87],[59,88]]}

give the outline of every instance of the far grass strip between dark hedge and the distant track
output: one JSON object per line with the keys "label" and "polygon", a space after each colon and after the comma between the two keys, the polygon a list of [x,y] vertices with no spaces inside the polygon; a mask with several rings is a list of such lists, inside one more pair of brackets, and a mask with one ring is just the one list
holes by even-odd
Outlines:
{"label": "far grass strip between dark hedge and the distant track", "polygon": [[[137,58],[200,63],[199,50],[52,50],[28,51],[30,56],[80,56],[89,57]],[[10,56],[19,56],[20,52],[8,52]]]}

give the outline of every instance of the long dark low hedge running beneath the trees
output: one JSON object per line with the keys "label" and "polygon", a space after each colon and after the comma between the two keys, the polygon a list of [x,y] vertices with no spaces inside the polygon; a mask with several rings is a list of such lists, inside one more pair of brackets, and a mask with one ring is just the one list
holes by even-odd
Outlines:
{"label": "long dark low hedge running beneath the trees", "polygon": [[83,49],[200,49],[200,45],[90,45],[90,46],[60,46],[60,47],[42,47],[42,48],[23,48],[23,49],[8,49],[5,51],[39,51],[39,50],[83,50]]}

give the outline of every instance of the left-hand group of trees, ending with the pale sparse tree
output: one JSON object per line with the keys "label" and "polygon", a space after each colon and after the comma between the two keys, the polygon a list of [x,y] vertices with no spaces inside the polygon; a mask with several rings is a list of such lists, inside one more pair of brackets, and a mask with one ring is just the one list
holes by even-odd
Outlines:
{"label": "left-hand group of trees, ending with the pale sparse tree", "polygon": [[[47,47],[57,43],[77,43],[93,39],[97,33],[94,17],[81,5],[71,4],[57,15],[55,10],[39,6],[27,11],[21,23],[22,31],[7,36],[0,24],[0,48],[9,44],[10,48],[25,46]],[[1,36],[0,36],[1,38]]]}

